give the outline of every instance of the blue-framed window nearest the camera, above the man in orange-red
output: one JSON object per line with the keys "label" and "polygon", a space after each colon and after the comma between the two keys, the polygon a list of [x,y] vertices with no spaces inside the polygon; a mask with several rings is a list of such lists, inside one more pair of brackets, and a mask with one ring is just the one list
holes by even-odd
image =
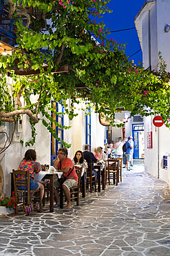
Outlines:
{"label": "blue-framed window nearest the camera, above the man in orange-red", "polygon": [[[51,115],[56,122],[59,122],[60,125],[63,126],[64,124],[64,118],[61,113],[63,113],[64,108],[62,104],[59,102],[52,102],[53,110]],[[59,115],[56,112],[60,112]],[[54,138],[54,136],[51,137],[51,165],[53,164],[53,160],[57,157],[58,150],[63,147],[62,140],[63,140],[63,129],[61,127],[58,127],[55,125],[54,122],[52,122],[52,128],[56,130],[56,135],[60,140],[57,140]]]}

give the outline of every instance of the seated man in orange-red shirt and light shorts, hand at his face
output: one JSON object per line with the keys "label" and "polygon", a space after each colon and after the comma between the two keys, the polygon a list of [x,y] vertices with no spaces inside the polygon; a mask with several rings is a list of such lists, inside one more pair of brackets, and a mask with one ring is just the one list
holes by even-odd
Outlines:
{"label": "seated man in orange-red shirt and light shorts, hand at his face", "polygon": [[[63,182],[62,188],[65,194],[65,198],[67,201],[67,206],[64,210],[70,210],[70,188],[74,187],[78,183],[78,176],[76,174],[76,170],[74,167],[74,163],[70,158],[67,157],[68,151],[65,147],[61,147],[58,152],[57,160],[54,163],[54,167],[58,168],[58,172],[63,172],[63,176],[65,177],[65,181]],[[54,207],[60,206],[60,197],[57,188],[60,188],[60,182],[57,179],[54,179],[54,196],[56,198],[56,205]],[[50,184],[47,185],[47,188],[50,190]]]}

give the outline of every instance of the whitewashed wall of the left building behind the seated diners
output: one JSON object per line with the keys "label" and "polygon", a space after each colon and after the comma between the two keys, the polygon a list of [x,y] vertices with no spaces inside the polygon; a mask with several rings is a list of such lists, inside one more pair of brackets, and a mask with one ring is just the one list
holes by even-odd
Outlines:
{"label": "whitewashed wall of the left building behind the seated diners", "polygon": [[[36,100],[32,98],[32,100]],[[63,140],[66,143],[71,143],[72,147],[68,149],[69,157],[73,158],[76,150],[83,151],[83,145],[91,145],[91,151],[94,152],[94,148],[104,146],[104,136],[105,127],[100,125],[98,120],[98,114],[92,112],[90,116],[86,116],[85,112],[81,110],[84,102],[80,100],[80,104],[75,105],[78,116],[73,118],[72,121],[69,120],[68,116],[63,117],[63,125],[71,126],[70,129],[59,131],[59,137],[63,136]],[[39,116],[40,118],[40,116]],[[3,192],[7,196],[10,196],[11,188],[11,172],[12,169],[17,170],[19,163],[23,158],[25,151],[32,148],[36,150],[37,161],[41,164],[52,163],[52,159],[55,158],[58,147],[56,139],[52,138],[51,134],[44,125],[39,122],[35,125],[36,127],[36,142],[32,147],[22,146],[20,139],[24,141],[29,141],[31,138],[31,127],[28,116],[23,115],[21,123],[17,123],[17,129],[14,132],[14,138],[12,139],[12,144],[8,149],[6,149],[3,154],[0,154],[0,163],[3,167],[4,184]],[[4,125],[0,126],[0,131],[6,131],[7,134],[12,136],[12,131],[14,125],[6,122]],[[6,143],[5,134],[0,136],[0,150]],[[8,143],[7,143],[8,145]],[[52,158],[53,157],[53,158]]]}

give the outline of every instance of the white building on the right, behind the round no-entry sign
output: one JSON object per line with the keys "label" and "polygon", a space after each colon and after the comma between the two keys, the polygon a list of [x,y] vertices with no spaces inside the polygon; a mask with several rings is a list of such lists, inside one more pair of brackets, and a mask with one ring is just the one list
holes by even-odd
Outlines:
{"label": "white building on the right, behind the round no-entry sign", "polygon": [[[135,18],[136,30],[142,48],[143,66],[157,69],[158,53],[170,71],[170,0],[147,0]],[[154,116],[144,118],[145,170],[170,185],[170,131],[164,125],[155,127]],[[163,156],[167,156],[167,168]]]}

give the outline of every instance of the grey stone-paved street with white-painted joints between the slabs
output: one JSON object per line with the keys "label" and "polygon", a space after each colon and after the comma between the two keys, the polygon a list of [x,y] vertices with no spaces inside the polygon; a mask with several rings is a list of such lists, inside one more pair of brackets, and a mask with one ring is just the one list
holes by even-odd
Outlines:
{"label": "grey stone-paved street with white-painted joints between the slabs", "polygon": [[0,217],[0,255],[170,255],[170,190],[142,161],[117,187],[72,205]]}

